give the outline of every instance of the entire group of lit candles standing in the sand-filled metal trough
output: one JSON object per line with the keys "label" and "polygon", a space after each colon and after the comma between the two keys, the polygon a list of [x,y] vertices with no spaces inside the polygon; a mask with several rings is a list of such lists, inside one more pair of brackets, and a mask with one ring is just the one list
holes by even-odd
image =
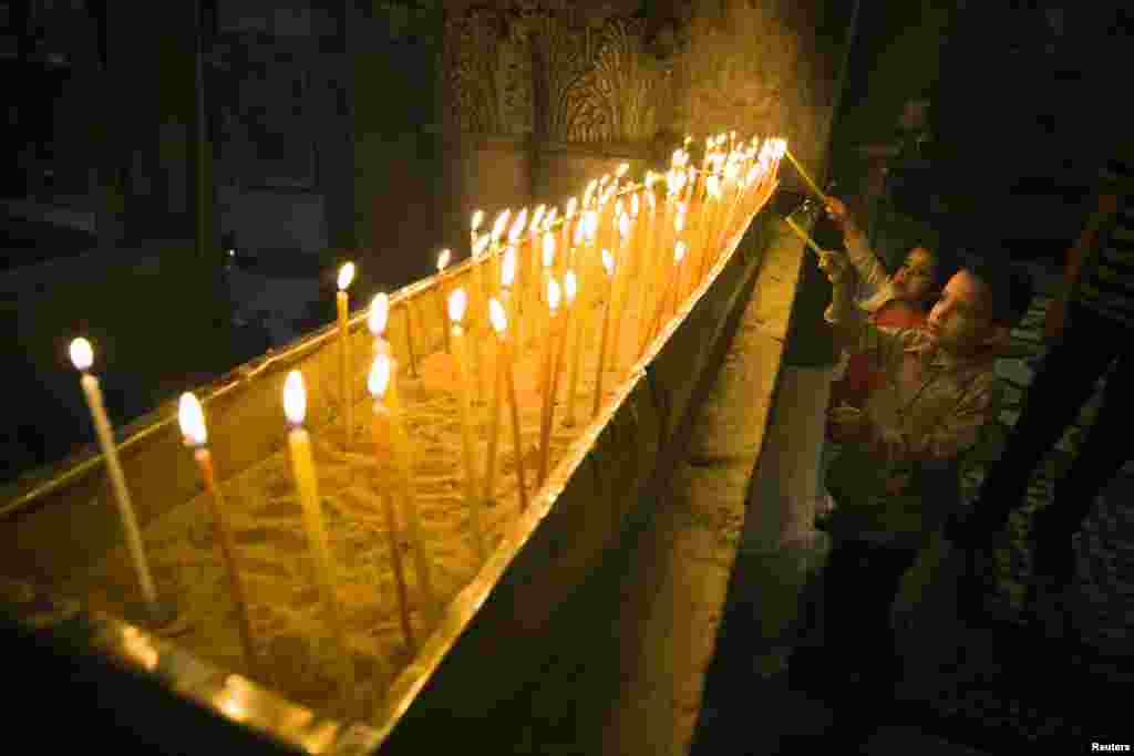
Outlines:
{"label": "entire group of lit candles standing in the sand-filled metal trough", "polygon": [[[477,233],[483,213],[473,216],[469,231],[469,252],[477,265],[469,271],[467,286],[475,292],[475,314],[466,321],[469,297],[464,287],[446,295],[445,282],[439,277],[434,287],[438,308],[447,326],[445,348],[454,357],[458,374],[458,406],[462,425],[462,459],[466,506],[474,524],[474,540],[479,558],[488,557],[488,535],[481,521],[481,510],[493,495],[501,409],[508,407],[511,441],[516,455],[517,492],[521,509],[526,509],[528,493],[522,448],[519,407],[516,397],[515,360],[523,348],[522,326],[526,322],[530,337],[542,342],[536,364],[540,394],[540,445],[536,485],[548,476],[550,432],[553,426],[555,405],[560,377],[567,371],[566,425],[576,423],[575,407],[578,389],[579,363],[587,350],[586,334],[598,340],[592,418],[598,416],[604,397],[604,373],[618,368],[619,347],[623,343],[620,326],[629,304],[636,304],[638,332],[635,334],[635,356],[641,357],[652,338],[660,332],[668,317],[677,312],[684,300],[719,258],[722,246],[734,228],[734,221],[744,199],[754,202],[770,190],[779,159],[786,152],[781,139],[768,139],[759,154],[756,141],[736,146],[735,133],[729,135],[729,150],[722,150],[725,135],[706,142],[701,168],[688,164],[689,155],[680,148],[675,152],[670,170],[663,175],[648,172],[641,185],[620,186],[627,167],[624,164],[611,181],[609,175],[587,185],[583,201],[573,197],[562,216],[557,209],[538,207],[528,218],[526,209],[515,218],[510,211],[500,213],[491,231]],[[688,141],[686,142],[686,146]],[[794,159],[793,159],[794,160]],[[743,177],[743,178],[742,178]],[[653,185],[665,180],[666,196],[659,201]],[[731,193],[731,195],[729,195]],[[616,199],[611,203],[611,199]],[[624,203],[624,198],[627,199]],[[689,209],[696,212],[689,215]],[[660,221],[659,221],[660,215]],[[743,213],[742,213],[743,215]],[[687,226],[692,218],[692,229]],[[510,221],[510,227],[509,227]],[[574,226],[572,226],[574,223]],[[507,235],[505,233],[507,229]],[[558,237],[556,235],[558,230]],[[600,237],[606,231],[604,241]],[[691,232],[692,231],[692,232]],[[557,247],[564,250],[558,258]],[[672,249],[667,264],[666,249]],[[524,256],[527,252],[528,255]],[[449,264],[451,254],[443,250],[438,258],[438,272]],[[526,267],[523,261],[527,261]],[[541,264],[542,263],[542,264]],[[523,273],[517,277],[517,272]],[[592,277],[601,274],[595,281]],[[354,277],[354,265],[348,263],[339,273],[337,292],[339,400],[342,407],[345,443],[352,443],[354,388],[350,380],[349,300],[347,289]],[[518,287],[517,287],[517,278]],[[634,290],[634,284],[637,290]],[[590,323],[589,309],[581,298],[587,287],[601,301],[601,322]],[[514,290],[518,288],[518,290]],[[635,298],[634,295],[637,295]],[[635,299],[635,303],[632,303]],[[587,300],[591,301],[591,300]],[[406,303],[406,341],[413,360],[413,333]],[[534,317],[531,317],[534,316]],[[425,613],[431,622],[439,618],[441,606],[432,587],[430,564],[422,545],[421,524],[413,484],[412,443],[406,432],[404,408],[396,384],[397,364],[386,328],[389,322],[389,297],[379,294],[367,316],[374,337],[374,357],[366,387],[373,400],[372,433],[375,449],[389,442],[393,452],[397,499],[403,506],[407,540],[413,549],[414,568],[421,586]],[[509,331],[509,324],[511,329]],[[475,457],[473,439],[473,405],[483,397],[484,355],[480,350],[477,328],[491,329],[496,339],[496,369],[491,377],[488,458],[483,468]],[[598,325],[598,334],[593,328]],[[568,349],[572,343],[573,349]],[[568,354],[570,352],[570,354]],[[93,349],[85,339],[76,339],[70,347],[71,359],[83,373],[82,388],[94,417],[99,443],[107,462],[112,491],[126,532],[126,541],[137,579],[147,606],[154,618],[160,615],[156,591],[146,564],[143,543],[134,516],[125,475],[117,457],[113,434],[102,404],[98,380],[91,375]],[[411,374],[416,367],[411,365]],[[311,450],[311,440],[303,427],[306,393],[298,371],[293,371],[285,383],[284,408],[290,425],[288,448],[296,490],[302,503],[303,526],[316,564],[319,588],[322,595],[328,626],[342,651],[344,695],[350,690],[354,671],[342,623],[341,608],[336,595],[333,560],[318,492],[318,476]],[[240,638],[249,669],[259,669],[254,653],[252,628],[247,614],[246,592],[240,583],[240,570],[234,547],[231,529],[225,517],[225,507],[217,486],[215,474],[206,444],[204,414],[193,394],[181,397],[179,406],[181,432],[186,443],[194,449],[194,459],[212,502],[212,513],[218,525],[220,551],[228,570],[229,584],[239,613]],[[477,490],[479,470],[481,487]],[[406,642],[413,649],[416,644],[411,622],[408,597],[397,549],[395,499],[382,491],[386,518],[390,533],[392,570],[395,572],[399,615]]]}

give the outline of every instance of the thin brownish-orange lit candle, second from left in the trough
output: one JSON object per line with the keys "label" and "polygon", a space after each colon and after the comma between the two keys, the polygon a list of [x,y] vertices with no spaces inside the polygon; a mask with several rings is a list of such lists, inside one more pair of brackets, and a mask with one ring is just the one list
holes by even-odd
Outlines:
{"label": "thin brownish-orange lit candle, second from left in the trough", "polygon": [[220,489],[217,486],[217,475],[213,470],[212,455],[208,445],[209,434],[205,430],[205,416],[201,409],[201,402],[192,393],[186,392],[181,394],[178,402],[177,419],[181,428],[181,436],[185,439],[185,445],[193,448],[193,459],[197,464],[197,470],[201,473],[201,482],[205,486],[206,499],[212,508],[213,521],[217,525],[217,535],[220,542],[221,560],[225,563],[225,571],[228,574],[228,584],[232,592],[232,603],[236,605],[240,645],[244,648],[244,662],[248,668],[248,672],[253,676],[259,676],[260,666],[256,663],[256,649],[252,640],[252,625],[248,621],[248,603],[236,559],[236,542],[232,538],[232,528],[229,526],[228,517],[225,515],[225,503],[221,499]]}

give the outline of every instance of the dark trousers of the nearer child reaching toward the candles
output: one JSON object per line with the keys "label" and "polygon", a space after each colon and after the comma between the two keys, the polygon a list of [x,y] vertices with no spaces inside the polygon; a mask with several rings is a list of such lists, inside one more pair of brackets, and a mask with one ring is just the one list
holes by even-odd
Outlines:
{"label": "dark trousers of the nearer child reaching toward the candles", "polygon": [[890,609],[914,549],[836,541],[823,569],[824,651],[865,672],[863,682],[892,685],[900,672]]}

